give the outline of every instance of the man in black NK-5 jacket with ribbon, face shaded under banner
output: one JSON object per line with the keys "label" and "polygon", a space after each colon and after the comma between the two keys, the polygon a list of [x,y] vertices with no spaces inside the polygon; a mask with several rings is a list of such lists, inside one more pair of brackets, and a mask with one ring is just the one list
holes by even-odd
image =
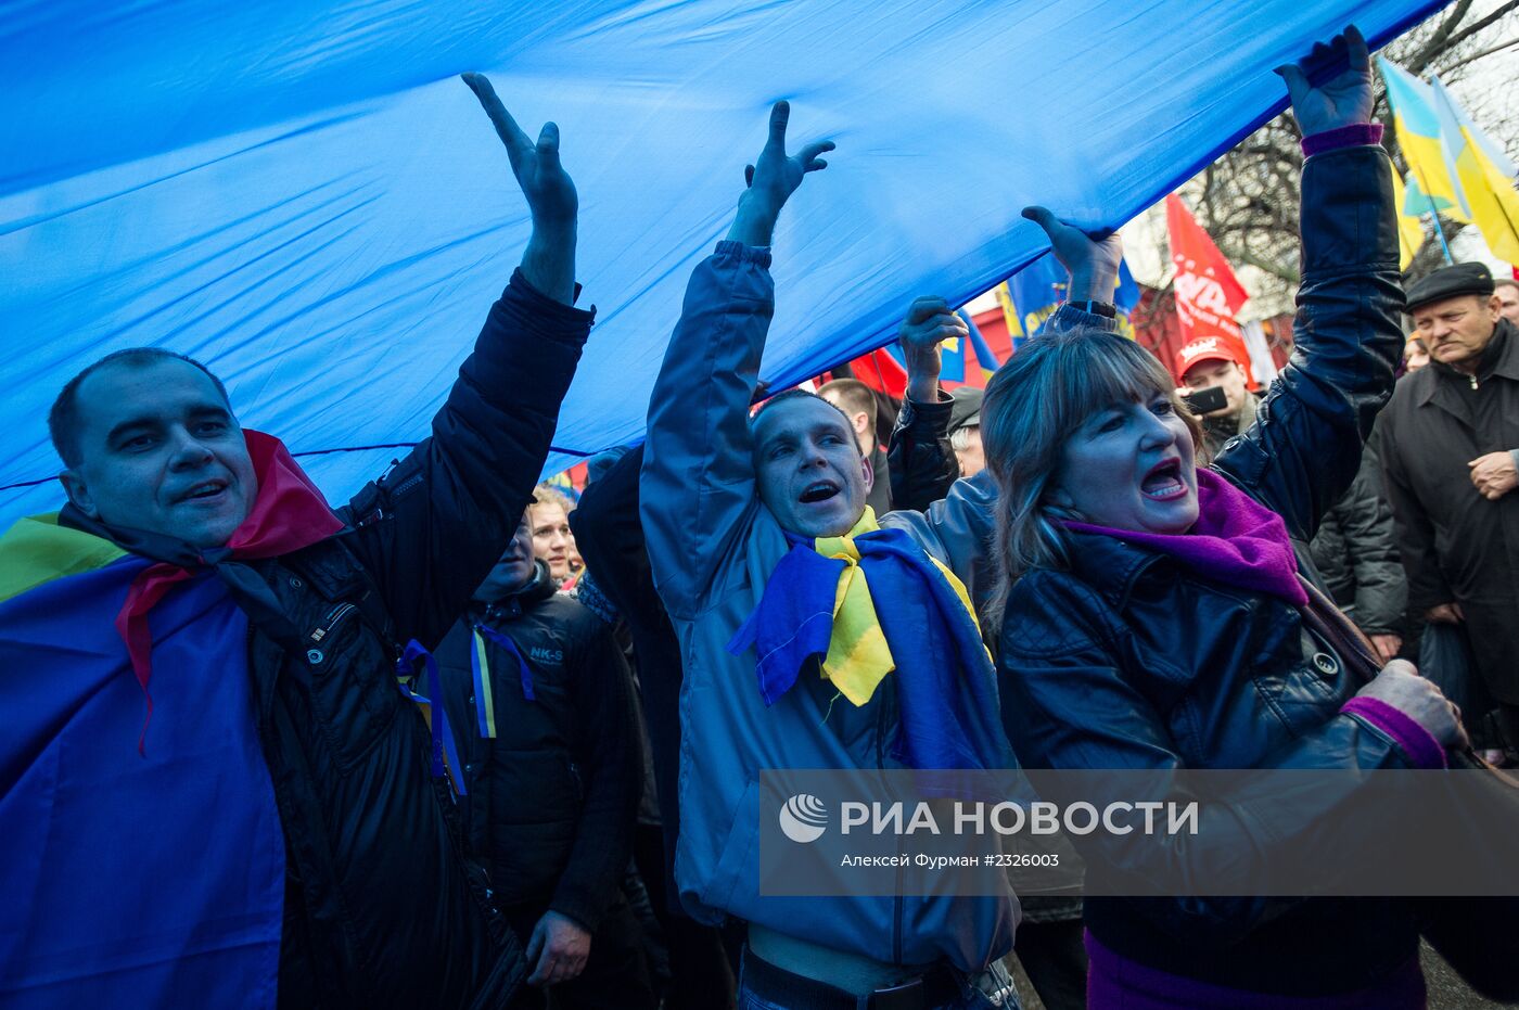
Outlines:
{"label": "man in black NK-5 jacket with ribbon, face shaded under banner", "polygon": [[434,658],[468,741],[469,851],[527,946],[527,981],[557,1007],[652,1008],[618,890],[643,776],[630,674],[611,627],[554,592],[526,518]]}

